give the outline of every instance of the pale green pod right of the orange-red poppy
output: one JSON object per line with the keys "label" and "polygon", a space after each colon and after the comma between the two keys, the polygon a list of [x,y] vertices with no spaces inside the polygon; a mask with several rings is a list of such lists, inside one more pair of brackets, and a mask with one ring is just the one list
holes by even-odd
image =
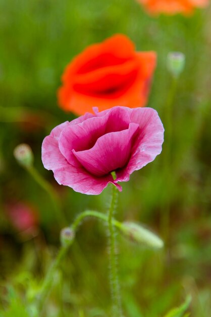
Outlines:
{"label": "pale green pod right of the orange-red poppy", "polygon": [[167,68],[174,77],[178,77],[185,67],[185,55],[181,52],[171,52],[167,56]]}

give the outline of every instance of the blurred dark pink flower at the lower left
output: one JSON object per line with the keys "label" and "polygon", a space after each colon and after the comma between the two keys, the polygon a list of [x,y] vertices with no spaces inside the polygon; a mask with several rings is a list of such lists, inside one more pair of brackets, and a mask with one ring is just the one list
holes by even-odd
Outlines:
{"label": "blurred dark pink flower at the lower left", "polygon": [[33,233],[38,225],[38,213],[28,203],[19,202],[8,206],[7,214],[14,228],[19,232]]}

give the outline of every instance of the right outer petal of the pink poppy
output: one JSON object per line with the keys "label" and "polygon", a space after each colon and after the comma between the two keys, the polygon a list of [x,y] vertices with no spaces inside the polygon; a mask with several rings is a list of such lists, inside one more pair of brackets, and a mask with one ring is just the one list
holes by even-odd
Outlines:
{"label": "right outer petal of the pink poppy", "polygon": [[130,120],[139,125],[140,135],[125,169],[117,172],[117,181],[128,181],[130,174],[152,162],[161,153],[164,142],[164,127],[156,110],[152,108],[128,108]]}

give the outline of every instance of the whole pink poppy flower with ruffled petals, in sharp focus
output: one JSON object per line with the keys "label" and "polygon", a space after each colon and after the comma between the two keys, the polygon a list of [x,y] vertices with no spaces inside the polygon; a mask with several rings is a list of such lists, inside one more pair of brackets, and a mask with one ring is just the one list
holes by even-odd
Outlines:
{"label": "whole pink poppy flower with ruffled petals, in sharp focus", "polygon": [[163,124],[154,109],[116,106],[54,128],[43,140],[42,162],[59,184],[75,191],[97,195],[109,183],[121,191],[118,182],[153,161],[163,141]]}

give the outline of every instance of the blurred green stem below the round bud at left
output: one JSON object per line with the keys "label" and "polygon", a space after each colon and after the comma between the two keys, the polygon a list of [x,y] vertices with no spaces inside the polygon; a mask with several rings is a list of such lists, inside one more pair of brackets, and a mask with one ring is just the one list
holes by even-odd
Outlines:
{"label": "blurred green stem below the round bud at left", "polygon": [[61,207],[59,196],[54,189],[43,177],[39,172],[34,168],[34,166],[28,166],[26,167],[26,170],[29,172],[29,174],[34,178],[34,180],[48,193],[50,200],[52,202],[52,205],[54,205],[54,210],[56,217],[59,221],[59,223],[62,226],[65,226],[67,223],[65,216],[63,214],[63,210]]}

